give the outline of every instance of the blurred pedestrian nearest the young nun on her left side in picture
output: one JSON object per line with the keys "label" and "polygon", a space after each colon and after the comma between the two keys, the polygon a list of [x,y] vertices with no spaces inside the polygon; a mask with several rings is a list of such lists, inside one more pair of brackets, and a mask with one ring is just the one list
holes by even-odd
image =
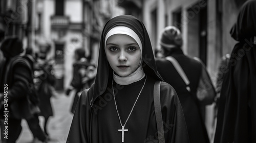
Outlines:
{"label": "blurred pedestrian nearest the young nun on her left side in picture", "polygon": [[71,108],[71,112],[73,114],[81,91],[90,88],[90,86],[94,83],[96,76],[96,67],[87,60],[86,52],[84,49],[76,49],[74,59],[75,62],[73,64],[73,79],[70,86],[66,90],[67,95],[70,94],[70,91],[74,89],[76,90]]}

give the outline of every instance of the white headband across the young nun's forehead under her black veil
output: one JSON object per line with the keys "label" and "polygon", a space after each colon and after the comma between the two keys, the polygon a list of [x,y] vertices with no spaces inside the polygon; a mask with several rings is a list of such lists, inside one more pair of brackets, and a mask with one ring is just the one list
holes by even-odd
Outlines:
{"label": "white headband across the young nun's forehead under her black veil", "polygon": [[114,28],[112,28],[108,33],[106,33],[106,37],[105,37],[105,48],[106,49],[106,40],[108,40],[108,38],[112,35],[115,34],[125,34],[125,35],[129,35],[131,36],[139,45],[140,47],[140,51],[142,53],[142,43],[140,41],[139,36],[130,28],[127,28],[125,26],[116,26]]}

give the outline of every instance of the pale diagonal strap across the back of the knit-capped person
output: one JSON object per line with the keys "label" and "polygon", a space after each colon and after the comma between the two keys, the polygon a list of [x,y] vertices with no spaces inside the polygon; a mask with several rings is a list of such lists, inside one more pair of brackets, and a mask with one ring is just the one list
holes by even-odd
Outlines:
{"label": "pale diagonal strap across the back of the knit-capped person", "polygon": [[182,78],[183,81],[185,82],[185,84],[186,84],[186,89],[190,92],[190,91],[191,91],[191,90],[190,90],[190,87],[189,87],[189,83],[190,83],[190,82],[189,82],[189,80],[188,80],[188,78],[187,78],[187,76],[186,76],[184,70],[182,69],[182,67],[181,67],[180,64],[178,63],[178,61],[177,61],[174,57],[172,57],[172,56],[168,56],[168,57],[166,57],[165,59],[168,60],[169,62],[171,62],[171,63],[174,65],[175,69],[178,71],[179,75],[181,76],[181,78]]}

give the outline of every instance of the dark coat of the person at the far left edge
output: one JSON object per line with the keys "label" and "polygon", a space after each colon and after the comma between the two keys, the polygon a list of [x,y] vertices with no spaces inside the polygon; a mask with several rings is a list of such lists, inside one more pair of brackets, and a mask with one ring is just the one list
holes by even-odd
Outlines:
{"label": "dark coat of the person at the far left edge", "polygon": [[[32,81],[32,68],[29,62],[20,56],[5,60],[1,67],[1,91],[4,85],[8,85],[8,139],[7,142],[14,143],[22,126],[22,118],[29,119],[33,116],[30,108],[29,84]],[[3,101],[3,99],[1,99]],[[3,109],[1,110],[2,115]],[[1,118],[3,118],[1,115]],[[3,129],[3,127],[1,127]],[[3,132],[3,130],[1,131]]]}

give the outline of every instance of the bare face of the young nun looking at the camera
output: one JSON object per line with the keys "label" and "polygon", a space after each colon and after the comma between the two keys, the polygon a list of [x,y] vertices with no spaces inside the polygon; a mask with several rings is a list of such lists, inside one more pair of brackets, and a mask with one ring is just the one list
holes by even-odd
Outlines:
{"label": "bare face of the young nun looking at the camera", "polygon": [[131,75],[140,65],[141,51],[130,36],[115,34],[106,41],[106,57],[111,68],[120,77]]}

